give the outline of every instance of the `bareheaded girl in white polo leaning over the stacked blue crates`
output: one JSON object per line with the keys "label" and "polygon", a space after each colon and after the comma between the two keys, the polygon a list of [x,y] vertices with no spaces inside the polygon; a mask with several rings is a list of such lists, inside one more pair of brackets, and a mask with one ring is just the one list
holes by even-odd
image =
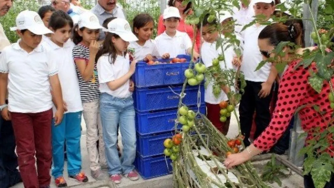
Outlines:
{"label": "bareheaded girl in white polo leaning over the stacked blue crates", "polygon": [[132,31],[138,38],[138,41],[131,42],[128,47],[133,59],[151,61],[154,57],[160,57],[156,44],[151,40],[153,26],[154,21],[149,14],[138,14],[133,19]]}

